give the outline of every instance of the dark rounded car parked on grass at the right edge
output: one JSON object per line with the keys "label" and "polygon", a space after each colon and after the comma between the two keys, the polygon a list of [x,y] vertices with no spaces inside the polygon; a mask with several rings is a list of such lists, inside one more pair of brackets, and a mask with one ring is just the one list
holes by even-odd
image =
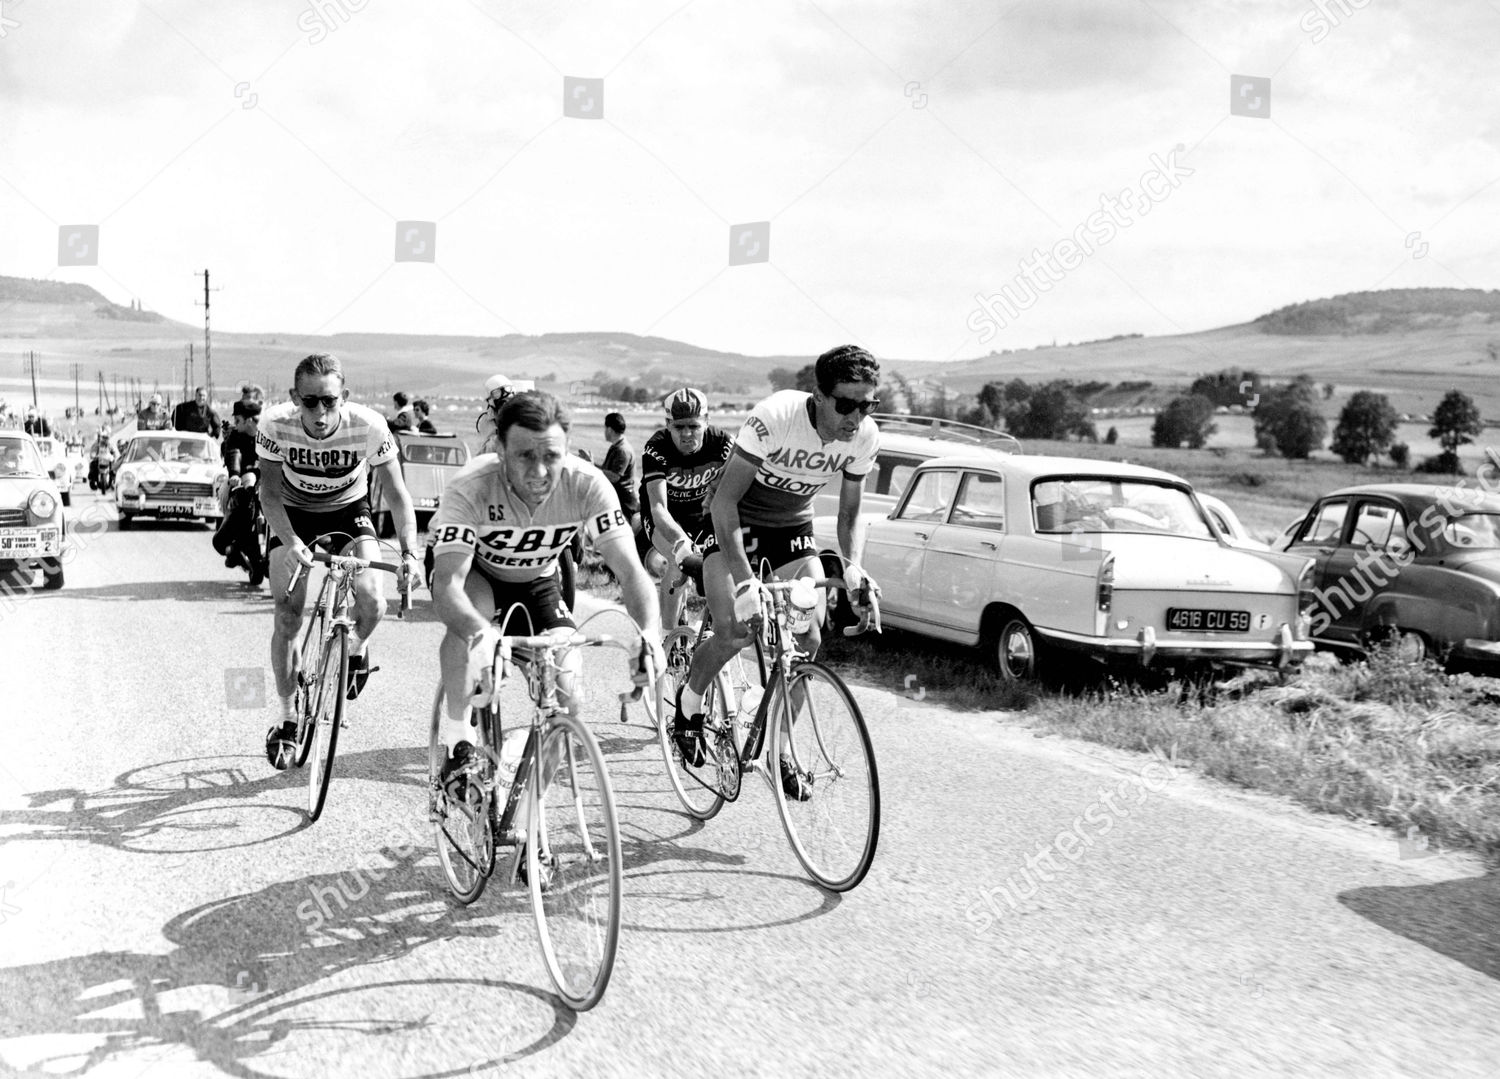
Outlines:
{"label": "dark rounded car parked on grass at the right edge", "polygon": [[1316,561],[1312,639],[1394,642],[1500,672],[1500,494],[1374,483],[1320,498],[1287,545]]}

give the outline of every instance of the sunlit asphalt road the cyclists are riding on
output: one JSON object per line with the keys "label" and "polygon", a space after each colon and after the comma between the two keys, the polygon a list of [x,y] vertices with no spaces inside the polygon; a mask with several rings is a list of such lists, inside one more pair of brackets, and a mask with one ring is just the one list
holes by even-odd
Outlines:
{"label": "sunlit asphalt road the cyclists are riding on", "polygon": [[574,1016],[524,896],[442,888],[426,596],[375,638],[310,827],[261,753],[268,608],[184,525],[81,536],[63,591],[0,603],[0,1071],[1496,1073],[1496,876],[898,672],[856,686],[884,828],[840,897],[759,782],[684,816],[622,662],[591,662],[626,927]]}

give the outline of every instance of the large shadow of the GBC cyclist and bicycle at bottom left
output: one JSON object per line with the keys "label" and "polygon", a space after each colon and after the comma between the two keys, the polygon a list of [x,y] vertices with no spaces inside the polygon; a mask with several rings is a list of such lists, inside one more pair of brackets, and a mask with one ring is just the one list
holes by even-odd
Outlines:
{"label": "large shadow of the GBC cyclist and bicycle at bottom left", "polygon": [[[435,864],[418,866],[435,863],[426,854],[392,848],[384,869],[315,873],[202,903],[162,926],[172,945],[164,954],[96,951],[0,968],[8,1041],[0,1061],[46,1074],[106,1062],[171,1070],[184,1059],[164,1049],[177,1046],[234,1076],[280,1076],[298,1059],[304,1068],[334,1059],[344,1073],[382,1074],[394,1061],[420,1061],[398,1074],[440,1079],[567,1037],[573,1011],[506,974],[519,965],[507,957],[519,951],[512,938],[531,932],[530,918],[518,906],[518,917],[496,920],[495,902],[452,905],[436,888]],[[428,966],[472,968],[477,959],[501,974],[411,977],[414,963],[386,980],[348,975],[444,944],[452,954]],[[486,1016],[480,1028],[471,1025],[476,1010]]]}

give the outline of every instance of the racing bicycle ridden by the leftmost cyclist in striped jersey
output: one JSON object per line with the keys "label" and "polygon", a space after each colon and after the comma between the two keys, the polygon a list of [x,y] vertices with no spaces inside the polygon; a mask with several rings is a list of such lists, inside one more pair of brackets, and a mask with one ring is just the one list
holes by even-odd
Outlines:
{"label": "racing bicycle ridden by the leftmost cyclist in striped jersey", "polygon": [[[315,539],[310,546],[330,546],[334,536],[351,539],[344,533],[327,533]],[[350,683],[350,632],[354,629],[354,578],[372,569],[394,573],[400,582],[398,617],[406,617],[406,611],[411,609],[411,582],[402,575],[399,564],[332,554],[326,549],[315,549],[312,558],[328,569],[322,575],[318,600],[302,635],[302,648],[297,651],[297,684],[292,690],[297,711],[297,750],[292,764],[300,768],[308,764],[309,756],[312,758],[312,767],[308,770],[309,822],[322,815],[322,806],[328,798],[328,782],[333,779],[333,755],[339,746],[339,731],[344,728],[344,705]],[[297,587],[302,572],[303,566],[298,563],[286,591]]]}

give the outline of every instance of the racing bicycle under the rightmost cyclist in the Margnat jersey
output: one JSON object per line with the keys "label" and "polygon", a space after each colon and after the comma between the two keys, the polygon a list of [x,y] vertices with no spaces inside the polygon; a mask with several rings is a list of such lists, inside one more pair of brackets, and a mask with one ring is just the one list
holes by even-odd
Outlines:
{"label": "racing bicycle under the rightmost cyclist in the Margnat jersey", "polygon": [[[666,635],[657,740],[672,789],[692,816],[712,818],[726,801],[740,797],[742,776],[759,773],[771,786],[798,861],[825,888],[848,891],[864,879],[874,860],[880,782],[870,732],[849,687],[832,668],[796,647],[789,629],[792,585],[792,581],[762,584],[754,662],[746,663],[741,651],[704,695],[705,744],[698,767],[684,761],[678,749],[674,705],[687,684],[693,651],[714,632],[712,618],[705,609],[696,627],[678,626]],[[813,587],[834,590],[844,584],[819,578]],[[808,795],[806,800],[783,788],[783,759]]]}

